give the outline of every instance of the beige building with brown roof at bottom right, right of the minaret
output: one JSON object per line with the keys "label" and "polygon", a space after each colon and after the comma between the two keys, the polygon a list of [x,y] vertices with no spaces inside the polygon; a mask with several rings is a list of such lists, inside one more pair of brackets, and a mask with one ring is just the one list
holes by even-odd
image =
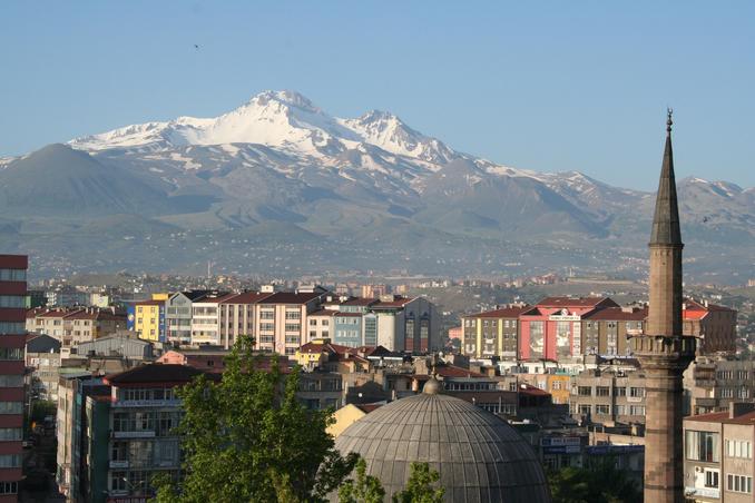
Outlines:
{"label": "beige building with brown roof at bottom right, right of the minaret", "polygon": [[685,494],[695,502],[755,502],[755,404],[684,420]]}

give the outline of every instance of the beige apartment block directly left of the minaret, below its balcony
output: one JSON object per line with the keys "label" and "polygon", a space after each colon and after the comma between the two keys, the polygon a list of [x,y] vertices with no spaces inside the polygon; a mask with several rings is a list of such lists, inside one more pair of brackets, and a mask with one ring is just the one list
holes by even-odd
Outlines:
{"label": "beige apartment block directly left of the minaret, below its balcony", "polygon": [[586,424],[645,424],[645,375],[640,371],[588,369],[571,379],[569,413]]}

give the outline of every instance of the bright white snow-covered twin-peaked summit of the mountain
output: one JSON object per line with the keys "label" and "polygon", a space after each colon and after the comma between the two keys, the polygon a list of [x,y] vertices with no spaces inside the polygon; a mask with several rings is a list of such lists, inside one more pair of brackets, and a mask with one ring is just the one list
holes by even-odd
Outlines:
{"label": "bright white snow-covered twin-peaked summit of the mountain", "polygon": [[256,144],[293,154],[332,156],[362,144],[386,152],[430,162],[448,162],[458,155],[441,141],[405,126],[398,117],[371,111],[356,119],[331,117],[297,92],[265,91],[216,118],[179,117],[76,138],[73,148],[170,148]]}

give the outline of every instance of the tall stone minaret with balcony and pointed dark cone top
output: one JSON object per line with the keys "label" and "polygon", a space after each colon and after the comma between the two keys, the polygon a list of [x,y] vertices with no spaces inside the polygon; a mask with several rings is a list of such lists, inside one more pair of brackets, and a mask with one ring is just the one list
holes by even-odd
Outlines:
{"label": "tall stone minaret with balcony and pointed dark cone top", "polygon": [[649,313],[633,338],[645,373],[645,502],[684,502],[682,373],[695,357],[695,338],[682,335],[682,233],[674,179],[671,110],[650,234]]}

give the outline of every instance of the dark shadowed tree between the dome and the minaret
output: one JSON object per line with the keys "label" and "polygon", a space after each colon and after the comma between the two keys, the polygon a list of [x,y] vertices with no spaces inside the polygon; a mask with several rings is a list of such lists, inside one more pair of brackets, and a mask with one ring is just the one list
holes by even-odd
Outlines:
{"label": "dark shadowed tree between the dome and the minaret", "polygon": [[615,460],[606,457],[587,467],[569,466],[549,473],[553,503],[638,503],[641,487],[626,472],[617,470]]}

